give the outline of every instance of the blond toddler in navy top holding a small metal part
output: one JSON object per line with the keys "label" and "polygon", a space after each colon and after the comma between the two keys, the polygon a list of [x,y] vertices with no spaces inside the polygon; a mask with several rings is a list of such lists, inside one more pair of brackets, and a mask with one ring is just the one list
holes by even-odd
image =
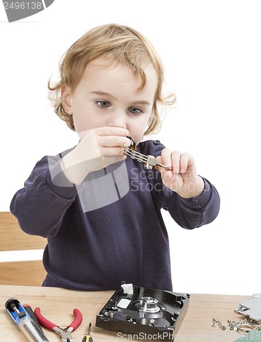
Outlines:
{"label": "blond toddler in navy top holding a small metal part", "polygon": [[[160,210],[192,229],[219,213],[219,194],[188,153],[158,140],[163,68],[150,42],[122,25],[88,31],[67,51],[51,87],[55,112],[79,135],[77,146],[43,157],[10,210],[28,234],[47,237],[44,286],[118,289],[122,281],[172,290],[169,239]],[[146,170],[138,152],[169,168]]]}

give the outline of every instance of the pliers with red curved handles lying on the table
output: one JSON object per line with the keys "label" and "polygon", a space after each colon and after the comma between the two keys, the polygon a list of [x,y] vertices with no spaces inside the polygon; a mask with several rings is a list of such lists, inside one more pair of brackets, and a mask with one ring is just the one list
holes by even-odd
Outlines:
{"label": "pliers with red curved handles lying on the table", "polygon": [[76,330],[82,323],[82,313],[77,308],[73,310],[73,315],[75,315],[74,321],[69,326],[65,327],[53,324],[51,323],[51,321],[43,317],[40,308],[35,308],[34,313],[41,326],[44,326],[45,328],[53,330],[57,332],[57,334],[60,334],[62,342],[73,342],[74,339],[71,335],[71,332],[73,332],[73,330]]}

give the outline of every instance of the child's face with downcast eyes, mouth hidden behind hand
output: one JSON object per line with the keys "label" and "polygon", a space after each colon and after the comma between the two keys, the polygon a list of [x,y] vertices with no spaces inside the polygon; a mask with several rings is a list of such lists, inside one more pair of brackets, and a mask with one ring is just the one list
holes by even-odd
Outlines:
{"label": "child's face with downcast eyes, mouth hidden behind hand", "polygon": [[100,59],[88,64],[74,92],[67,88],[63,94],[64,109],[73,115],[79,137],[90,129],[123,127],[138,144],[147,129],[158,84],[150,64],[145,75],[145,87],[139,91],[140,79],[125,66],[105,66]]}

